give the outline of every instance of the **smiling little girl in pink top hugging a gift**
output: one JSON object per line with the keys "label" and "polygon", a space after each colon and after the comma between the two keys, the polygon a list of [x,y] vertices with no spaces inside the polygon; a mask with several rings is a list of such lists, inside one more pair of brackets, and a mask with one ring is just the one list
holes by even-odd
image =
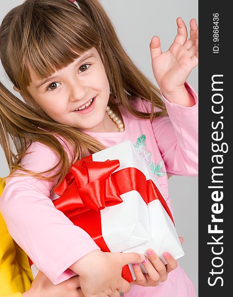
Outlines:
{"label": "smiling little girl in pink top hugging a gift", "polygon": [[[197,24],[190,21],[188,40],[181,18],[177,27],[167,52],[158,37],[150,44],[161,99],[122,49],[98,0],[26,0],[0,26],[0,59],[22,96],[0,84],[0,141],[10,168],[0,210],[35,265],[54,284],[78,274],[86,297],[195,296],[169,251],[166,266],[152,249],[150,261],[102,252],[52,202],[71,164],[126,140],[151,152],[170,208],[167,174],[197,174],[197,96],[186,83],[198,63]],[[121,278],[127,263],[135,263],[131,289]]]}

